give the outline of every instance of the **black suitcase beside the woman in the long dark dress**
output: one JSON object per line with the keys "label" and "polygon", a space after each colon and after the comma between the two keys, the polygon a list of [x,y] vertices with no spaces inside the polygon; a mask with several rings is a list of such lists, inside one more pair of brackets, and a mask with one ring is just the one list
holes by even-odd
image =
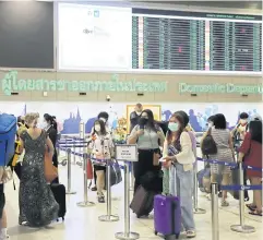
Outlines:
{"label": "black suitcase beside the woman in the long dark dress", "polygon": [[[53,193],[55,200],[59,204],[59,218],[61,217],[64,220],[64,215],[67,212],[65,205],[65,188],[63,184],[53,183],[50,184],[51,191]],[[58,219],[59,220],[59,219]]]}

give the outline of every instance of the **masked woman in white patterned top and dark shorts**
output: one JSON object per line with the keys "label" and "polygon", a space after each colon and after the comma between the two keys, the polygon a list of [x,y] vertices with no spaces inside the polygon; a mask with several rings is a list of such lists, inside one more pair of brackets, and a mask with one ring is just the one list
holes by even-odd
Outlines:
{"label": "masked woman in white patterned top and dark shorts", "polygon": [[[106,131],[103,120],[96,120],[94,123],[92,142],[88,144],[88,149],[96,159],[107,160],[115,156],[115,145],[110,133]],[[103,190],[105,189],[106,166],[105,164],[97,161],[94,164],[94,170],[97,176],[97,199],[99,203],[105,203]]]}

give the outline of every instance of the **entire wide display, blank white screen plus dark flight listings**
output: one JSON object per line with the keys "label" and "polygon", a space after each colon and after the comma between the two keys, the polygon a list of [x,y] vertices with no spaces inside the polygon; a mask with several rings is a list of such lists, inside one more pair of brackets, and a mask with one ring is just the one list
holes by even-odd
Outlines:
{"label": "entire wide display, blank white screen plus dark flight listings", "polygon": [[59,3],[59,69],[262,71],[262,16]]}

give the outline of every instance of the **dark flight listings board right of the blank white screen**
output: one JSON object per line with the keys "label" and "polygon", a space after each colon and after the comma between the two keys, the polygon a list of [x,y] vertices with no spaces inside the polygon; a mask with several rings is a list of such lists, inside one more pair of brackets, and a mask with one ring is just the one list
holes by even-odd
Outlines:
{"label": "dark flight listings board right of the blank white screen", "polygon": [[256,16],[133,9],[132,69],[262,71]]}

